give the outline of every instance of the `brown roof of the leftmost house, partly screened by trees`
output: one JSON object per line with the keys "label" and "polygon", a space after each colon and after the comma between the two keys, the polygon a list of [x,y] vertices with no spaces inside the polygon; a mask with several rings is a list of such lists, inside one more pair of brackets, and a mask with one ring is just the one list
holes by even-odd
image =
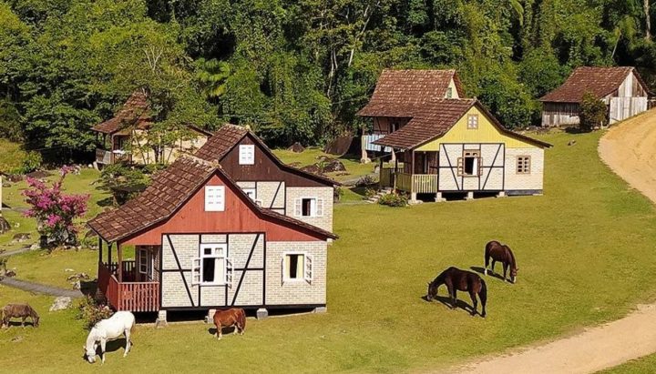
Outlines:
{"label": "brown roof of the leftmost house, partly screened by trees", "polygon": [[103,134],[114,134],[126,126],[147,127],[152,121],[149,111],[148,96],[142,91],[135,91],[128,97],[116,116],[91,129]]}

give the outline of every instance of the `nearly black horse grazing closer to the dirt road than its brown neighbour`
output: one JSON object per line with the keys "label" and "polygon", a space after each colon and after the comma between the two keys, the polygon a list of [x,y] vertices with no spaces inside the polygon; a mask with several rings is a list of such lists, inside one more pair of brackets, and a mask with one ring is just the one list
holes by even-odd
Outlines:
{"label": "nearly black horse grazing closer to the dirt road than its brown neighbour", "polygon": [[448,290],[449,296],[451,297],[452,309],[456,308],[456,291],[467,291],[469,292],[469,297],[472,299],[472,303],[474,304],[471,315],[476,316],[477,314],[478,295],[478,298],[481,299],[481,305],[483,307],[483,310],[481,311],[481,317],[485,318],[487,285],[485,280],[480,278],[478,274],[472,273],[471,271],[460,270],[459,268],[454,267],[447,268],[440,275],[438,275],[437,278],[433,279],[432,282],[428,283],[428,293],[426,295],[426,299],[431,301],[433,298],[436,298],[437,288],[443,284],[446,284],[446,289]]}

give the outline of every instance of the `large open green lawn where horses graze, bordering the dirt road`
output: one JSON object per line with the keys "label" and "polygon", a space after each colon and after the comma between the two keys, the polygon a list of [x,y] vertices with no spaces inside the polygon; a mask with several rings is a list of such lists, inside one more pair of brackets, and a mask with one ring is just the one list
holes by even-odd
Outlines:
{"label": "large open green lawn where horses graze, bordering the dirt road", "polygon": [[[246,335],[220,342],[200,322],[140,325],[128,358],[114,345],[101,367],[81,359],[86,333],[72,311],[49,313],[49,298],[0,288],[0,304],[25,299],[43,315],[40,329],[0,332],[0,362],[18,372],[415,371],[620,318],[656,298],[656,209],[600,162],[600,135],[540,136],[555,145],[542,197],[337,205],[341,238],[329,248],[326,314],[250,318]],[[480,267],[493,238],[513,248],[519,275],[516,285],[486,278],[487,318],[422,299],[442,269]],[[23,339],[12,342],[16,336]]]}

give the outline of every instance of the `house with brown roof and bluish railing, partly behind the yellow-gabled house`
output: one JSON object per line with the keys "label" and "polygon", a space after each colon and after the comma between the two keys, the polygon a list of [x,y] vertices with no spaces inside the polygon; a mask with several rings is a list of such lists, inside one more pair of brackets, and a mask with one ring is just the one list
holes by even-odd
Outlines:
{"label": "house with brown roof and bluish railing, partly behind the yellow-gabled house", "polygon": [[405,113],[404,108],[438,98],[460,97],[465,97],[465,91],[456,70],[384,70],[371,100],[357,113],[374,119],[372,131],[363,131],[363,160],[368,160],[369,154],[381,156],[391,152],[374,142],[410,121],[411,113]]}

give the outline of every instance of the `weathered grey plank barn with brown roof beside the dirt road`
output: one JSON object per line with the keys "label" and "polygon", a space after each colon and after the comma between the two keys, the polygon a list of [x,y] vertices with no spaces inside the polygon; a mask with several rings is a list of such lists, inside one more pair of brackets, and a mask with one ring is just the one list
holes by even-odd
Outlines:
{"label": "weathered grey plank barn with brown roof beside the dirt road", "polygon": [[539,99],[542,126],[578,126],[579,105],[588,91],[606,104],[610,124],[647,110],[649,89],[635,67],[583,66]]}

